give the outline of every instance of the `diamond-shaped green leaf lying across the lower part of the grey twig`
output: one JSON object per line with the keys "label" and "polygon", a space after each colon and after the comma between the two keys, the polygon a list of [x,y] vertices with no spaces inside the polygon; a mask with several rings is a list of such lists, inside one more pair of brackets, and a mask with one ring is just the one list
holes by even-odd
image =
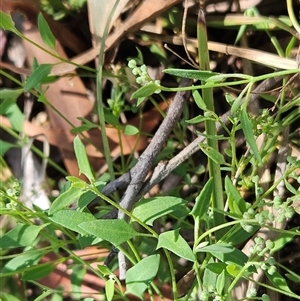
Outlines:
{"label": "diamond-shaped green leaf lying across the lower part of the grey twig", "polygon": [[109,241],[115,246],[119,246],[132,237],[139,235],[132,226],[121,219],[84,222],[79,224],[79,227],[91,235]]}

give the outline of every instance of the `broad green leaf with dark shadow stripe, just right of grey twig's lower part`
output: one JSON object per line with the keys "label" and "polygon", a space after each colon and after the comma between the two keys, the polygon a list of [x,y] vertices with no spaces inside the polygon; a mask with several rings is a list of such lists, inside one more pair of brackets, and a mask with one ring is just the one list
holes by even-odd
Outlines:
{"label": "broad green leaf with dark shadow stripe, just right of grey twig's lower part", "polygon": [[147,225],[152,226],[156,219],[180,210],[185,204],[186,202],[183,199],[177,197],[153,197],[138,202],[132,214]]}

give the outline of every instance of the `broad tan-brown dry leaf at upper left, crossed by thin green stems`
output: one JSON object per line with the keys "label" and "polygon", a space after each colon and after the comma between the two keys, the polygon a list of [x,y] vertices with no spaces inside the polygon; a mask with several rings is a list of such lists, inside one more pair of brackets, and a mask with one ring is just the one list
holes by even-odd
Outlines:
{"label": "broad tan-brown dry leaf at upper left, crossed by thin green stems", "polygon": [[[38,30],[33,27],[29,22],[24,22],[24,35],[37,45],[52,52],[42,41]],[[56,64],[58,59],[49,55],[45,51],[37,48],[32,43],[24,41],[24,47],[27,54],[29,64],[32,64],[33,59],[36,58],[39,64]],[[57,53],[67,59],[67,56],[61,47],[60,43],[56,43]],[[93,103],[86,96],[86,88],[81,79],[77,76],[73,78],[60,78],[57,82],[50,84],[47,87],[45,96],[49,103],[62,114],[73,126],[79,126],[81,122],[77,117],[87,116],[93,109]],[[53,127],[70,130],[72,126],[58,115],[49,106],[46,106],[50,123]],[[63,131],[62,134],[65,132]],[[68,137],[63,136],[61,139],[67,141]],[[74,152],[67,151],[61,145],[58,146],[63,157],[64,164],[70,175],[78,175],[78,166]]]}

